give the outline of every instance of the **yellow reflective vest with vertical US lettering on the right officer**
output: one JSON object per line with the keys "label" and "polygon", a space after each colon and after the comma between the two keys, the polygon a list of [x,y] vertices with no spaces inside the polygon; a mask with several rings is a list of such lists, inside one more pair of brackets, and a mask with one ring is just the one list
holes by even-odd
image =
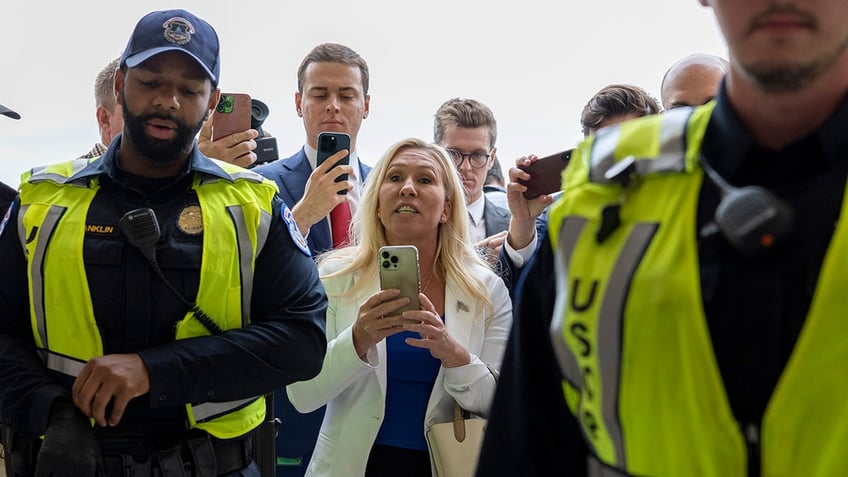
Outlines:
{"label": "yellow reflective vest with vertical US lettering on the right officer", "polygon": [[[763,421],[743,435],[751,429],[730,409],[700,292],[699,151],[713,107],[671,110],[588,138],[550,210],[551,339],[565,399],[595,454],[590,475],[744,476],[755,441],[764,476],[842,475],[848,221],[833,235]],[[843,200],[843,217],[846,207]],[[610,227],[613,215],[619,223]]]}

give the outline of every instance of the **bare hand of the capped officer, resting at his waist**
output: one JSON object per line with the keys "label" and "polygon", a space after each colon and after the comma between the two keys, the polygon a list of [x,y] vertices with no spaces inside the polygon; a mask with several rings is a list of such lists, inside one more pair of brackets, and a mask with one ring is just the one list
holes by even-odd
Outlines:
{"label": "bare hand of the capped officer, resting at his waist", "polygon": [[[92,358],[71,388],[74,404],[101,427],[117,426],[130,399],[150,391],[147,367],[137,354],[109,354]],[[114,399],[114,402],[113,402]],[[112,404],[109,420],[106,407]]]}

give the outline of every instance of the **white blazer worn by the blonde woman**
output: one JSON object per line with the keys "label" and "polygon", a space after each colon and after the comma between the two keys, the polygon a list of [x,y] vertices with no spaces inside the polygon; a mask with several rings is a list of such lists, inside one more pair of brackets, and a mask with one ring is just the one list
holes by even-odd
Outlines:
{"label": "white blazer worn by the blonde woman", "polygon": [[[383,340],[372,347],[362,360],[354,350],[351,332],[359,314],[359,305],[380,289],[379,281],[375,277],[372,283],[360,289],[355,299],[339,299],[339,295],[353,287],[358,275],[324,280],[329,296],[328,346],[324,365],[321,372],[309,381],[286,387],[289,400],[300,412],[310,412],[327,405],[318,442],[306,470],[307,476],[364,475],[371,447],[383,421],[386,342]],[[512,326],[512,302],[503,280],[491,270],[480,267],[477,276],[482,277],[486,284],[494,313],[487,312],[484,303],[472,301],[461,293],[456,282],[447,277],[445,327],[453,339],[471,353],[471,363],[439,369],[427,403],[422,433],[435,423],[453,419],[454,400],[474,414],[488,414],[496,381],[486,364],[500,371]]]}

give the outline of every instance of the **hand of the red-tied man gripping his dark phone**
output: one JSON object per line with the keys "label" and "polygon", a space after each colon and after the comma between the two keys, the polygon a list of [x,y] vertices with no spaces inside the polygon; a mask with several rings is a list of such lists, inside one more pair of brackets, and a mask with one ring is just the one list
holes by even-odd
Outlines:
{"label": "hand of the red-tied man gripping his dark phone", "polygon": [[339,191],[353,190],[353,182],[350,180],[336,182],[342,174],[348,174],[351,178],[355,177],[353,166],[336,165],[336,162],[344,159],[348,153],[347,149],[342,149],[333,154],[309,175],[303,198],[292,208],[297,227],[304,235],[308,233],[310,227],[326,217],[335,206],[347,201],[347,195],[339,194]]}

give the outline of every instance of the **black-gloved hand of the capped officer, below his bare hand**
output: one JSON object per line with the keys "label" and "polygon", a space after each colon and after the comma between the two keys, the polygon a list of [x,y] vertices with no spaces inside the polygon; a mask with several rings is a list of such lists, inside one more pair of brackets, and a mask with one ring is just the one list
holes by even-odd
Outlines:
{"label": "black-gloved hand of the capped officer, below his bare hand", "polygon": [[91,423],[71,402],[57,399],[35,462],[35,477],[98,475],[104,475],[103,456]]}

